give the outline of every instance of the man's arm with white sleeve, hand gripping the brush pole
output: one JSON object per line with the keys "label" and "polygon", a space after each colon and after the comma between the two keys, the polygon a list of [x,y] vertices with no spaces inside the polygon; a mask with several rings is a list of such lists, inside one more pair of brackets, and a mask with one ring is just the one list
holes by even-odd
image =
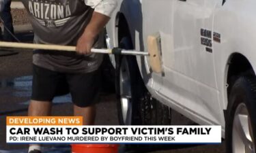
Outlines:
{"label": "man's arm with white sleeve, hand gripping the brush pole", "polygon": [[76,51],[80,54],[89,54],[97,35],[109,21],[115,9],[116,0],[85,0],[85,4],[94,8],[94,13],[83,35],[76,44]]}

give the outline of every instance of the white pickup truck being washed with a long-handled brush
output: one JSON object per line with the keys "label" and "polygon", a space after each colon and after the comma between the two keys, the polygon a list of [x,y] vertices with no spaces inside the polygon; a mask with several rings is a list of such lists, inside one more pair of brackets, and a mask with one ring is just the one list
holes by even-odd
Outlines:
{"label": "white pickup truck being washed with a long-handled brush", "polygon": [[221,125],[227,152],[256,146],[256,1],[118,0],[107,44],[147,52],[159,35],[162,73],[115,56],[119,121],[171,124],[171,109]]}

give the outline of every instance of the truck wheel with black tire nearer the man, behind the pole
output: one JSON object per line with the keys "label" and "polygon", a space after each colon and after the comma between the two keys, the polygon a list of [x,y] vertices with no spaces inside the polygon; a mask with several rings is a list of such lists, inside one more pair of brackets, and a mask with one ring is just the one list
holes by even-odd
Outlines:
{"label": "truck wheel with black tire nearer the man, behind the pole", "polygon": [[[132,49],[130,39],[120,46]],[[145,88],[135,56],[118,56],[116,69],[117,112],[123,125],[169,125],[171,109],[152,98]]]}

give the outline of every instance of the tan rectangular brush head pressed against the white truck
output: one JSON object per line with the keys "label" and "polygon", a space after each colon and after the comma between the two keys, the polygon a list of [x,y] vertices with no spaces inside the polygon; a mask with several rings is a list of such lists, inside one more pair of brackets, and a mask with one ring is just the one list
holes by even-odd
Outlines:
{"label": "tan rectangular brush head pressed against the white truck", "polygon": [[162,73],[159,35],[150,35],[147,37],[147,49],[150,53],[150,67],[152,71]]}

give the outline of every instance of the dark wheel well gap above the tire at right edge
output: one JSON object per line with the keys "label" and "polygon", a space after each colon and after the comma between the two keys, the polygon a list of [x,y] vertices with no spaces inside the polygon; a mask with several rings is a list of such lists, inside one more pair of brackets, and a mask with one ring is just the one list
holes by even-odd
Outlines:
{"label": "dark wheel well gap above the tire at right edge", "polygon": [[235,53],[229,59],[229,69],[227,72],[227,95],[229,95],[231,86],[238,79],[239,75],[247,71],[253,71],[251,63],[247,60],[245,56],[239,53]]}

